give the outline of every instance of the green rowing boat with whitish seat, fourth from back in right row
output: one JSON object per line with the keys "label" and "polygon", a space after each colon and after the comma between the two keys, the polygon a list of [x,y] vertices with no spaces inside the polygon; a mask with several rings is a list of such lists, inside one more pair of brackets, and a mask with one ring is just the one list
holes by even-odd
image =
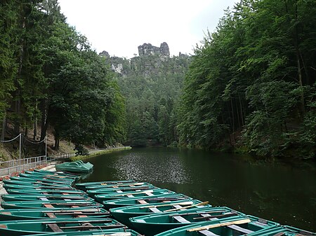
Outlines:
{"label": "green rowing boat with whitish seat, fourth from back in right row", "polygon": [[140,190],[140,191],[129,191],[124,193],[108,193],[108,194],[99,194],[95,195],[94,199],[98,202],[103,202],[107,200],[117,200],[117,199],[124,199],[127,197],[147,197],[147,196],[155,196],[155,195],[162,195],[162,194],[172,194],[171,190],[168,189],[150,189],[150,190]]}

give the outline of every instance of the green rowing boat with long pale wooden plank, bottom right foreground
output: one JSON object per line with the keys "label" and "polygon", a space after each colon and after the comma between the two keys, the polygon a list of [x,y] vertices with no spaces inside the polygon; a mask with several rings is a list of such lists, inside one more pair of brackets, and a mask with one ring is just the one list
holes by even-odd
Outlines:
{"label": "green rowing boat with long pale wooden plank, bottom right foreground", "polygon": [[[265,221],[254,216],[233,216],[215,221],[204,221],[159,233],[157,236],[235,236],[248,235],[267,230],[278,223]],[[157,228],[159,225],[157,225]],[[155,228],[154,230],[157,230]],[[146,235],[152,235],[152,229]]]}

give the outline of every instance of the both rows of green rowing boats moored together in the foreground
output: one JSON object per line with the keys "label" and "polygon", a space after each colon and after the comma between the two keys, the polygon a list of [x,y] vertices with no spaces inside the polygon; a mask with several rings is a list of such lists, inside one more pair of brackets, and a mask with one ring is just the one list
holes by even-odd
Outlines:
{"label": "both rows of green rowing boats moored together in the foreground", "polygon": [[150,183],[78,180],[41,170],[4,180],[0,235],[316,235]]}

